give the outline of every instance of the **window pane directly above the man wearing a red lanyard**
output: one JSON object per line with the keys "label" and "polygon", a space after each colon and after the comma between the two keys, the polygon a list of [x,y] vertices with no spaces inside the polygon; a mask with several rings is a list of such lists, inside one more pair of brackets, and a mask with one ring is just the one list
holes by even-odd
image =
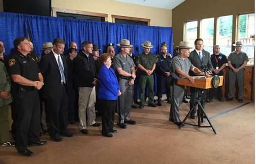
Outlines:
{"label": "window pane directly above the man wearing a red lanyard", "polygon": [[233,16],[223,16],[218,18],[217,44],[220,46],[220,52],[229,56],[232,46],[232,24]]}

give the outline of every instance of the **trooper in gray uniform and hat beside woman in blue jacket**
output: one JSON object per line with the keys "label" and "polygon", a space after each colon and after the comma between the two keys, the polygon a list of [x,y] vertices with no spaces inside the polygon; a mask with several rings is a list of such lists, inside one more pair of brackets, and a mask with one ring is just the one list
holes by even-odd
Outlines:
{"label": "trooper in gray uniform and hat beside woman in blue jacket", "polygon": [[129,57],[130,41],[122,39],[117,46],[121,47],[121,51],[114,57],[114,68],[118,73],[119,86],[122,95],[119,96],[118,123],[117,125],[125,129],[128,124],[136,124],[136,121],[130,119],[130,109],[132,107],[133,85],[136,78],[135,64],[133,59]]}

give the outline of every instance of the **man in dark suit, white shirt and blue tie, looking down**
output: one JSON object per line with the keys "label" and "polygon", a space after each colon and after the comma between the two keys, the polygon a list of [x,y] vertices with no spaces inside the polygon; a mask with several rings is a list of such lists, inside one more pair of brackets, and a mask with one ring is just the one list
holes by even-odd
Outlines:
{"label": "man in dark suit, white shirt and blue tie, looking down", "polygon": [[62,56],[65,41],[56,38],[53,51],[42,57],[40,69],[44,77],[43,97],[46,100],[46,116],[50,123],[50,137],[53,141],[62,141],[60,136],[72,137],[66,128],[68,125],[68,68],[66,57]]}

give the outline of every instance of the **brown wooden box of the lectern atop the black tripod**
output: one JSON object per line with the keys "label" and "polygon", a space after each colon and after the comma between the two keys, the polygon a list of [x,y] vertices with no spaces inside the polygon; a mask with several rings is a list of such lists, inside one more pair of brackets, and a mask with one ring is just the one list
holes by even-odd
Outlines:
{"label": "brown wooden box of the lectern atop the black tripod", "polygon": [[[220,78],[219,86],[222,86],[223,85],[223,76],[219,76],[219,78]],[[210,78],[194,77],[194,83],[191,83],[188,79],[178,79],[177,84],[191,86],[191,87],[200,88],[200,89],[209,89],[209,88],[213,87],[212,79],[213,79],[213,77],[210,77]]]}

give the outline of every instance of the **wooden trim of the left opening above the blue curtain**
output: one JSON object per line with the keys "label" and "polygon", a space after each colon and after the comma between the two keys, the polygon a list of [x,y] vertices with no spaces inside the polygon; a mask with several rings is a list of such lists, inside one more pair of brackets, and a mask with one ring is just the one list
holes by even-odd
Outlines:
{"label": "wooden trim of the left opening above the blue curtain", "polygon": [[81,11],[81,10],[71,10],[71,9],[61,9],[61,8],[58,8],[58,7],[52,7],[52,17],[57,17],[57,12],[80,14],[80,15],[89,15],[89,16],[95,16],[95,17],[104,17],[105,22],[107,22],[107,19],[108,19],[108,14],[104,14],[104,13]]}

